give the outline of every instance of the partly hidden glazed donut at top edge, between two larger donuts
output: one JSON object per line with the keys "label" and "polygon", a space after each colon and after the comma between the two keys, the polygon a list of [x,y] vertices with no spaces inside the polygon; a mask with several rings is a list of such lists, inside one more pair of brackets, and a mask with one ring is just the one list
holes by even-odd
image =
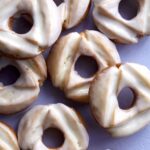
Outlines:
{"label": "partly hidden glazed donut at top edge, between two larger donuts", "polygon": [[88,13],[90,2],[91,0],[64,0],[59,6],[64,28],[69,29],[79,24]]}

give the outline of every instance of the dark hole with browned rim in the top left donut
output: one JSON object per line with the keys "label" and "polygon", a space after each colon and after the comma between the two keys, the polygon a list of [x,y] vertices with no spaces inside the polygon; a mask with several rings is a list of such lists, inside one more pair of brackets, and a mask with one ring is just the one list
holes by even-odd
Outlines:
{"label": "dark hole with browned rim in the top left donut", "polygon": [[29,13],[18,12],[9,20],[9,27],[18,34],[28,33],[33,26],[33,18]]}

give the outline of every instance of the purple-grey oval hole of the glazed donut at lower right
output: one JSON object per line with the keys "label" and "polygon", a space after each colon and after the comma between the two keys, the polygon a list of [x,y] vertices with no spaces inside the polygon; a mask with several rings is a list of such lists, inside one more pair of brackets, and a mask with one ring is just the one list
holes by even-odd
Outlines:
{"label": "purple-grey oval hole of the glazed donut at lower right", "polygon": [[118,103],[121,109],[127,110],[133,107],[136,101],[136,94],[129,87],[123,88],[118,94]]}

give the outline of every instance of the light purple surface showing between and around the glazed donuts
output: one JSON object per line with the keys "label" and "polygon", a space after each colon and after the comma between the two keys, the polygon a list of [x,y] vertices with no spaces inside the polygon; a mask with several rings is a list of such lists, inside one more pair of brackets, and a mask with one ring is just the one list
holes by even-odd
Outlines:
{"label": "light purple surface showing between and around the glazed donuts", "polygon": [[[96,30],[96,27],[91,17],[91,13],[88,15],[86,20],[83,23],[81,23],[78,27],[71,29],[70,31],[64,32],[63,34],[66,34],[71,31],[81,32],[84,31],[85,29]],[[145,37],[141,39],[138,44],[117,45],[117,48],[123,62],[140,63],[150,68],[150,37]],[[45,53],[45,56],[47,56],[47,53],[48,51]],[[78,111],[80,111],[84,116],[87,122],[88,132],[90,136],[89,150],[150,149],[150,126],[147,126],[140,132],[130,137],[119,139],[112,138],[104,129],[102,129],[96,124],[95,120],[91,116],[88,105],[81,105],[66,99],[63,92],[52,86],[52,83],[49,78],[45,82],[44,86],[41,88],[41,92],[37,101],[28,109],[31,109],[34,105],[38,104],[46,105],[58,102],[65,103],[68,106],[73,106]],[[7,122],[17,131],[18,123],[27,110],[17,113],[15,115],[9,116],[0,115],[0,120]]]}

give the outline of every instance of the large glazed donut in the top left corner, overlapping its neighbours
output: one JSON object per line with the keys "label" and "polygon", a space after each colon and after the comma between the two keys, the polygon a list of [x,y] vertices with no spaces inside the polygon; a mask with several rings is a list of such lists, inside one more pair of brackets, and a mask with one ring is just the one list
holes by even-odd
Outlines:
{"label": "large glazed donut in the top left corner, overlapping its neighbours", "polygon": [[[37,56],[61,33],[60,11],[53,0],[0,0],[0,9],[0,52],[7,56],[19,59]],[[12,31],[14,19],[20,14],[33,18],[33,26],[25,34]]]}

